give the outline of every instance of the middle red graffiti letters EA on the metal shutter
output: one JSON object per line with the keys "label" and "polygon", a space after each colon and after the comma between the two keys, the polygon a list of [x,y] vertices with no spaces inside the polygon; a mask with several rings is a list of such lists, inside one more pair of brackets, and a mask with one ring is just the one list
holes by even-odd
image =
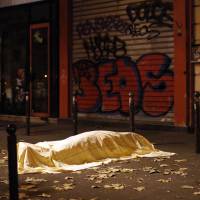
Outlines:
{"label": "middle red graffiti letters EA on the metal shutter", "polygon": [[102,111],[128,111],[128,94],[134,91],[135,107],[140,101],[140,81],[136,64],[128,57],[99,66],[98,85],[102,92]]}

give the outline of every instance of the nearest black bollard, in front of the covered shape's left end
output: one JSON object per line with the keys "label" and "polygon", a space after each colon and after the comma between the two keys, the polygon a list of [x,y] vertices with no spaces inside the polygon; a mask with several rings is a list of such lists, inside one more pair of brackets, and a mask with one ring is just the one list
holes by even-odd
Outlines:
{"label": "nearest black bollard, in front of the covered shape's left end", "polygon": [[8,133],[7,142],[10,200],[18,200],[17,140],[15,135],[15,124],[9,124],[6,130]]}

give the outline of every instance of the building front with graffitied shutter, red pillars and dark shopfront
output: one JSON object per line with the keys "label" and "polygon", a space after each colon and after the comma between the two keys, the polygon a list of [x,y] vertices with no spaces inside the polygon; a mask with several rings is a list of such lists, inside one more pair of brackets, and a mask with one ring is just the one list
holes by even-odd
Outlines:
{"label": "building front with graffitied shutter, red pillars and dark shopfront", "polygon": [[15,79],[24,67],[33,116],[69,118],[75,94],[82,117],[124,119],[133,92],[137,121],[193,126],[198,1],[10,2],[1,8],[11,21],[0,27],[1,114],[23,114]]}

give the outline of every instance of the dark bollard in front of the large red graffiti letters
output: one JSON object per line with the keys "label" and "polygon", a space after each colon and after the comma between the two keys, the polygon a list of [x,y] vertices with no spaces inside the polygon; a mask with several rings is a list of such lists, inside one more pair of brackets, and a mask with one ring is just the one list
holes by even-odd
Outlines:
{"label": "dark bollard in front of the large red graffiti letters", "polygon": [[135,131],[135,116],[134,116],[134,93],[129,92],[129,120],[130,120],[130,131]]}

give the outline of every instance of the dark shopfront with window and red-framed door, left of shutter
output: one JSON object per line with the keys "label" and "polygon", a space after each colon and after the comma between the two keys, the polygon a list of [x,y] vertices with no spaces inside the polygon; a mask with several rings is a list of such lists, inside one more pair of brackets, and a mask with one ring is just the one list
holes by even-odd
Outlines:
{"label": "dark shopfront with window and red-framed door, left of shutter", "polygon": [[0,7],[0,115],[25,116],[30,111],[31,116],[57,117],[58,1],[4,6]]}

